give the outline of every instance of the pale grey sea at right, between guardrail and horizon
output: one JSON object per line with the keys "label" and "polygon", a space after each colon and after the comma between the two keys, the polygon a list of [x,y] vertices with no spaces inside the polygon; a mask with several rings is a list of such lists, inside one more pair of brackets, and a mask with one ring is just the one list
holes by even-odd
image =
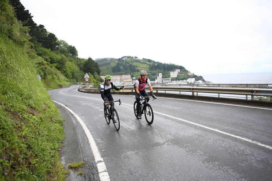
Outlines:
{"label": "pale grey sea at right, between guardrail and horizon", "polygon": [[214,84],[272,84],[272,72],[202,74],[205,81]]}

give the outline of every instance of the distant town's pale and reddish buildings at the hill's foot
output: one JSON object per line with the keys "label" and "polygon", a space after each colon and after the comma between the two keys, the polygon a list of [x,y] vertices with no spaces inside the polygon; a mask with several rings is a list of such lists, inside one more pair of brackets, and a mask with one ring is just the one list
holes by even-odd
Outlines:
{"label": "distant town's pale and reddish buildings at the hill's foot", "polygon": [[[150,81],[151,84],[204,84],[201,80],[195,81],[195,78],[188,78],[187,80],[179,80],[179,81],[171,81],[171,78],[177,77],[180,69],[176,69],[176,71],[170,71],[170,78],[162,78],[162,73],[157,74],[157,79],[155,81]],[[187,75],[194,75],[193,73],[188,73]],[[105,80],[105,76],[100,76],[103,80]],[[140,77],[140,76],[139,76]],[[114,84],[126,84],[132,85],[136,81],[136,77],[131,78],[130,75],[112,75],[112,82]]]}

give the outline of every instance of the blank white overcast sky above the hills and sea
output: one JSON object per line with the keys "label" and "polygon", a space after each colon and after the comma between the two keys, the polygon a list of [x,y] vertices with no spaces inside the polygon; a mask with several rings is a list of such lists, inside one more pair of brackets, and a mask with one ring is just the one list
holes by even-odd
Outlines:
{"label": "blank white overcast sky above the hills and sea", "polygon": [[137,56],[196,75],[272,72],[272,1],[20,0],[80,58]]}

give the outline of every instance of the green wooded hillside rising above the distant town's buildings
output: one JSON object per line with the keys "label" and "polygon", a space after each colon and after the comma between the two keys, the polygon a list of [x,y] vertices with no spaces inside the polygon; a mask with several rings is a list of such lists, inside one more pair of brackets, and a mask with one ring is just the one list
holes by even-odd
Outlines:
{"label": "green wooded hillside rising above the distant town's buildings", "polygon": [[158,73],[162,73],[163,78],[170,77],[170,71],[175,71],[175,69],[180,69],[180,74],[177,78],[172,78],[172,80],[183,80],[187,78],[197,77],[197,75],[187,75],[187,71],[183,66],[175,64],[167,64],[155,62],[151,59],[138,59],[138,57],[133,56],[123,56],[119,59],[114,58],[104,58],[97,59],[96,62],[101,69],[101,75],[131,75],[131,77],[139,77],[139,72],[141,70],[146,70],[148,72],[148,77],[151,81],[157,78]]}

